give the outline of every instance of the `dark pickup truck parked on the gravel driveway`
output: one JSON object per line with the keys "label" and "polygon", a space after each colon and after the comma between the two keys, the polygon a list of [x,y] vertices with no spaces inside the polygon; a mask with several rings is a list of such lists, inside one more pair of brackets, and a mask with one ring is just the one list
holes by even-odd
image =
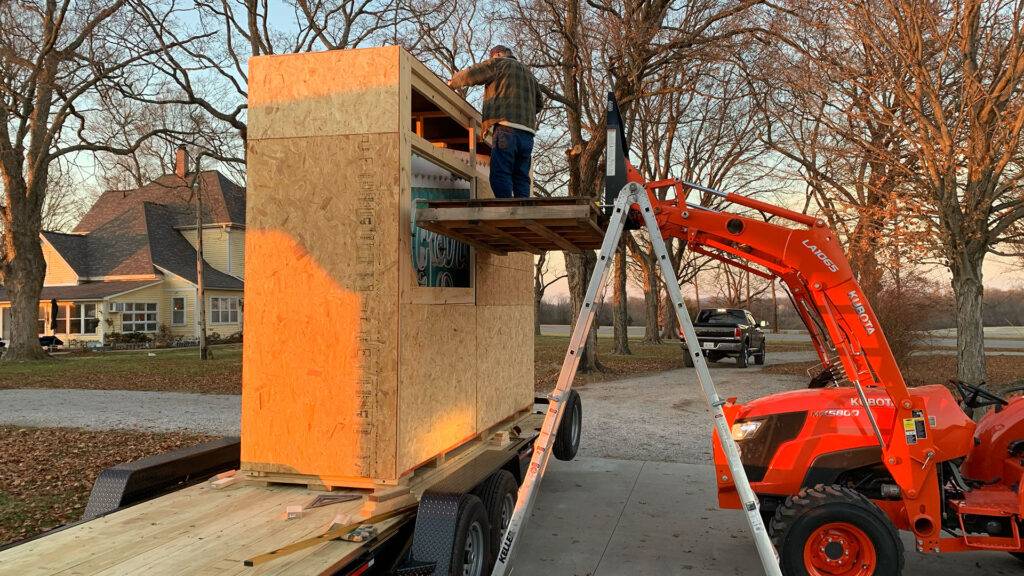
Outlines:
{"label": "dark pickup truck parked on the gravel driveway", "polygon": [[[727,356],[735,357],[738,368],[746,368],[754,357],[755,364],[765,363],[765,333],[768,323],[756,322],[754,315],[743,308],[700,308],[693,322],[697,340],[708,362]],[[683,362],[693,366],[693,356],[683,340]]]}

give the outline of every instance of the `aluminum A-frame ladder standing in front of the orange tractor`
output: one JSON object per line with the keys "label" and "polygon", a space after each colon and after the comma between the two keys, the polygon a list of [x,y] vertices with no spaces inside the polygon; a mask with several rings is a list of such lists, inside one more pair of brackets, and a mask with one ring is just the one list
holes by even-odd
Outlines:
{"label": "aluminum A-frame ladder standing in front of the orange tractor", "polygon": [[[568,351],[565,353],[565,360],[562,361],[562,369],[558,374],[555,389],[549,397],[548,413],[541,426],[541,434],[534,445],[534,455],[530,459],[529,467],[526,469],[522,486],[519,487],[519,499],[516,501],[515,510],[512,512],[512,518],[509,520],[508,528],[498,549],[498,559],[495,562],[495,569],[492,572],[492,576],[507,576],[512,573],[512,559],[515,553],[515,547],[518,543],[519,535],[526,525],[526,519],[534,507],[537,494],[540,491],[541,479],[548,467],[551,450],[555,443],[555,434],[558,430],[558,425],[561,423],[564,403],[568,399],[569,389],[572,387],[572,380],[575,378],[577,369],[580,367],[580,352],[584,347],[587,334],[590,332],[591,325],[593,324],[594,300],[597,293],[604,286],[608,264],[611,261],[615,248],[618,246],[618,240],[622,238],[623,231],[625,230],[626,217],[630,211],[630,207],[634,204],[640,207],[640,213],[643,215],[644,224],[647,228],[651,244],[654,247],[654,253],[657,255],[665,285],[668,287],[669,296],[676,307],[676,317],[679,319],[679,325],[683,328],[686,341],[697,341],[696,333],[693,331],[693,324],[690,322],[689,313],[686,312],[686,306],[683,304],[683,296],[679,291],[679,282],[676,279],[675,271],[672,269],[672,261],[669,259],[665,240],[662,238],[657,220],[651,208],[650,199],[647,197],[647,191],[640,184],[634,182],[628,183],[620,191],[618,197],[615,199],[611,218],[608,222],[608,230],[605,232],[604,242],[601,244],[601,252],[598,255],[597,264],[594,266],[594,274],[591,276],[590,284],[587,286],[587,296],[580,311],[580,316],[577,319],[575,328],[572,330],[572,337],[569,340]],[[722,441],[722,448],[729,462],[729,469],[732,471],[732,479],[736,485],[740,503],[754,536],[758,554],[761,557],[765,574],[767,576],[781,576],[782,572],[779,569],[778,556],[772,546],[771,539],[768,537],[768,531],[765,529],[764,521],[759,510],[757,496],[754,494],[754,490],[751,489],[746,472],[743,470],[742,462],[739,459],[739,450],[736,447],[735,441],[732,440],[729,423],[725,418],[725,412],[722,410],[722,406],[725,403],[718,396],[718,390],[715,388],[715,382],[712,381],[711,372],[708,370],[708,363],[703,355],[694,355],[693,364],[696,368],[697,379],[700,381],[700,387],[703,389],[708,405],[712,409],[715,418],[715,428],[718,430],[718,437]]]}

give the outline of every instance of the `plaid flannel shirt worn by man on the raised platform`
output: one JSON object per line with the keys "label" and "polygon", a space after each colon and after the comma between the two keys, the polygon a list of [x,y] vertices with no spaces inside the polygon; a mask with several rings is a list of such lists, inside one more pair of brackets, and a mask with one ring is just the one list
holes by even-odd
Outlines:
{"label": "plaid flannel shirt worn by man on the raised platform", "polygon": [[537,115],[544,105],[541,84],[525,66],[514,57],[483,60],[459,71],[449,85],[453,88],[478,86],[483,88],[484,134],[499,122],[511,122],[537,130]]}

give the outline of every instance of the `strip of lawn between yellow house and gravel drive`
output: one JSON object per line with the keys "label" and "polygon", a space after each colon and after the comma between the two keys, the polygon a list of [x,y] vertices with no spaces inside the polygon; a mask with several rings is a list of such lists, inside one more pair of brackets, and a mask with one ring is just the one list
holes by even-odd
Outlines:
{"label": "strip of lawn between yellow house and gravel drive", "polygon": [[[35,362],[0,363],[0,388],[85,388],[241,394],[242,346],[55,355]],[[153,356],[151,356],[153,355]]]}

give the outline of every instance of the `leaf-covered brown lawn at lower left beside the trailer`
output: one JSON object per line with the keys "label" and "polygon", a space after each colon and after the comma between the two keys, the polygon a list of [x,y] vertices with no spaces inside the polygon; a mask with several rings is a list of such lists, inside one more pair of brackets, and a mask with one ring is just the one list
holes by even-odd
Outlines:
{"label": "leaf-covered brown lawn at lower left beside the trailer", "polygon": [[103,468],[209,439],[0,426],[0,545],[79,520]]}

